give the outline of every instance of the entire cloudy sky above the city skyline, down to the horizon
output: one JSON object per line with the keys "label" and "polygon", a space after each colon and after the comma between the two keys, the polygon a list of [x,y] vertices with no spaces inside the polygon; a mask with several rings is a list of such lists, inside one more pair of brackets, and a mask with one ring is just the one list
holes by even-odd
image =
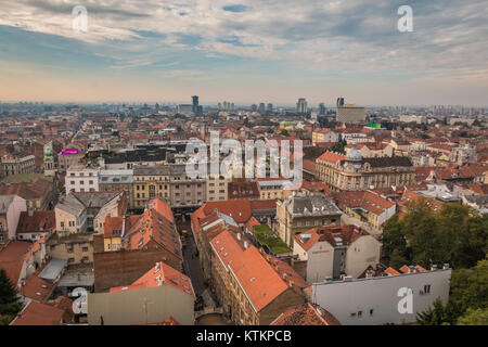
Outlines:
{"label": "entire cloudy sky above the city skyline, down to the horizon", "polygon": [[485,0],[0,0],[0,102],[486,107],[487,17]]}

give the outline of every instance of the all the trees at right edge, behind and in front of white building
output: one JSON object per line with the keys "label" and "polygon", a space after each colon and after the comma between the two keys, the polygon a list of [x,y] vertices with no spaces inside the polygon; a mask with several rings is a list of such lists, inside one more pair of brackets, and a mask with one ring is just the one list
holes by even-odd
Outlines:
{"label": "all the trees at right edge, behind and in front of white building", "polygon": [[453,268],[449,301],[436,300],[418,314],[418,324],[488,324],[488,215],[458,203],[433,211],[427,200],[418,200],[401,220],[388,221],[382,237],[383,256],[393,268],[446,262]]}

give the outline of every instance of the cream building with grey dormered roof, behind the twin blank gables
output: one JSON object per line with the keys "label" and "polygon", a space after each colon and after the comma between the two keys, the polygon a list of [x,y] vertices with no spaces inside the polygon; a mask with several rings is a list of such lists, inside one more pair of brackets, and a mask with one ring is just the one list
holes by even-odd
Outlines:
{"label": "cream building with grey dormered roof, behind the twin blank gables", "polygon": [[295,234],[313,227],[341,223],[342,214],[325,195],[295,194],[277,202],[279,236],[293,248]]}

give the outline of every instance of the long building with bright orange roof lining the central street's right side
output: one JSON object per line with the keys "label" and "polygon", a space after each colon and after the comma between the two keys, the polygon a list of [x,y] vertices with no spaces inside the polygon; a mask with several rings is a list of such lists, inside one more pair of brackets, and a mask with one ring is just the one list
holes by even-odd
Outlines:
{"label": "long building with bright orange roof lining the central street's right side", "polygon": [[229,231],[211,242],[216,295],[239,325],[269,325],[282,312],[305,304],[305,281],[285,262],[248,246]]}

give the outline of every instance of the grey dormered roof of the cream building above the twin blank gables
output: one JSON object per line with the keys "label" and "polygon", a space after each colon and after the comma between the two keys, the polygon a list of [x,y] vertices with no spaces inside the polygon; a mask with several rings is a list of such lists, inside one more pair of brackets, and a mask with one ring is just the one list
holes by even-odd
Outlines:
{"label": "grey dormered roof of the cream building above the twin blank gables", "polygon": [[342,210],[332,198],[324,195],[292,196],[285,201],[286,209],[294,217],[301,216],[335,216]]}

